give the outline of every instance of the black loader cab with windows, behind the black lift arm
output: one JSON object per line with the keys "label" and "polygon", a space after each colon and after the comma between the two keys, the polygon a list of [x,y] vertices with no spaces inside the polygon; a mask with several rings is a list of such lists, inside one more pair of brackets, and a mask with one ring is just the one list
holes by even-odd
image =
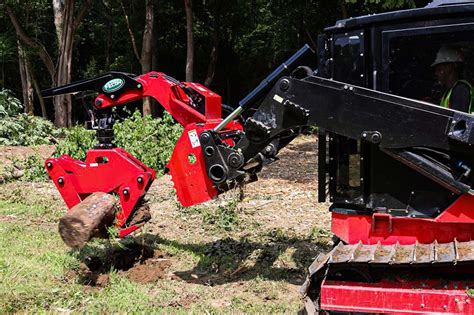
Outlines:
{"label": "black loader cab with windows, behind the black lift arm", "polygon": [[[441,47],[462,54],[461,78],[474,83],[474,1],[337,21],[318,37],[318,75],[437,105],[446,89],[432,66]],[[333,211],[435,217],[456,197],[374,145],[324,130],[319,140],[319,200],[328,193]]]}

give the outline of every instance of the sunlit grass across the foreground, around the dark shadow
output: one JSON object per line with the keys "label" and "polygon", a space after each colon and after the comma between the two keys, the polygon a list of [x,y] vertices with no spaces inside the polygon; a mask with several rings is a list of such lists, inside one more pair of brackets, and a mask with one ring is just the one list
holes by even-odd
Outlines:
{"label": "sunlit grass across the foreground, around the dark shadow", "polygon": [[[285,280],[258,277],[242,280],[240,286],[224,282],[209,287],[183,280],[138,284],[112,270],[110,282],[104,288],[84,286],[75,277],[67,275],[71,270],[77,271],[81,259],[99,250],[103,244],[99,242],[99,245],[82,252],[69,250],[53,224],[61,214],[41,204],[0,201],[0,314],[65,311],[296,313],[301,308],[298,301],[279,301],[285,294],[285,288],[287,290]],[[43,220],[39,224],[35,223],[39,218]],[[234,243],[229,244],[232,247]],[[222,265],[228,263],[236,266],[236,262],[227,261],[230,256],[208,257],[205,253],[208,245],[181,244],[160,238],[156,244],[160,250],[175,258],[180,264],[179,268],[182,268],[180,270],[207,269],[215,262],[214,259]],[[221,302],[217,303],[219,300]]]}

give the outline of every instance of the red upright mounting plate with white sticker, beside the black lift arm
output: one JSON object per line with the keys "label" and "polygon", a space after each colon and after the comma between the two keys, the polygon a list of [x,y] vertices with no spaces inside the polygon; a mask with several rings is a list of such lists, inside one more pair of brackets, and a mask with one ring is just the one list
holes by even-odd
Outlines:
{"label": "red upright mounting plate with white sticker, beside the black lift arm", "polygon": [[[168,163],[176,195],[183,207],[189,207],[215,198],[218,191],[206,173],[203,152],[199,137],[201,133],[212,129],[217,123],[190,124],[175,145]],[[241,130],[234,121],[227,125],[230,130]],[[229,141],[229,140],[227,140]],[[232,145],[232,143],[228,143]]]}

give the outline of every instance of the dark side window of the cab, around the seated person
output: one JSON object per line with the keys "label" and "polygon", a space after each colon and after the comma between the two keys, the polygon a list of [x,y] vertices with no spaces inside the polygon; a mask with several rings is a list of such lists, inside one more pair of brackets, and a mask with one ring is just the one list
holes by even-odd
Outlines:
{"label": "dark side window of the cab, around the seated person", "polygon": [[[474,31],[393,37],[389,43],[388,92],[440,104],[447,87],[436,64],[456,59],[459,79],[474,79]],[[455,52],[455,53],[453,53]],[[458,57],[453,57],[457,55]],[[450,59],[451,58],[451,59]],[[462,62],[461,62],[462,61]]]}

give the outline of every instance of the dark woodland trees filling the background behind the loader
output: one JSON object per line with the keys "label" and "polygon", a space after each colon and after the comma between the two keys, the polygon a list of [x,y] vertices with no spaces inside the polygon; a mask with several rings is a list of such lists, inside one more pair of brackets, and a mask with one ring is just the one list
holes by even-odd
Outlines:
{"label": "dark woodland trees filling the background behind the loader", "polygon": [[[0,5],[0,89],[30,112],[69,126],[80,100],[33,90],[116,70],[162,71],[205,83],[236,104],[273,67],[338,19],[423,6],[423,0],[4,0]],[[191,51],[190,51],[190,48]],[[192,60],[190,60],[192,58]],[[192,67],[192,68],[190,68]],[[20,71],[19,71],[20,69]],[[23,72],[22,72],[23,71]],[[32,82],[30,94],[25,82]],[[23,84],[22,84],[23,82]],[[36,87],[35,87],[36,84]],[[58,120],[64,106],[65,120]],[[70,106],[70,107],[67,107]],[[56,113],[56,119],[54,119]]]}

